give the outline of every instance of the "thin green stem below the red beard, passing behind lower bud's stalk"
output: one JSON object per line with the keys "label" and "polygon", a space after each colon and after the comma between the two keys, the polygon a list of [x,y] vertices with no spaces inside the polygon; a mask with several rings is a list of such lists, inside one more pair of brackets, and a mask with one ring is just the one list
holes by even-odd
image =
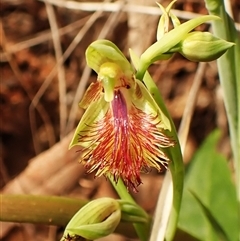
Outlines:
{"label": "thin green stem below the red beard, passing behind lower bud's stalk", "polygon": [[[124,185],[121,178],[119,178],[118,183],[116,184],[112,177],[109,177],[113,187],[115,188],[116,192],[118,193],[119,197],[122,200],[128,201],[130,203],[136,204],[130,193],[127,191],[126,186]],[[142,212],[145,212],[143,209]],[[146,214],[147,215],[147,214]],[[133,223],[133,226],[136,230],[136,233],[141,241],[147,241],[149,238],[150,233],[150,225],[151,219],[149,218],[149,223]]]}

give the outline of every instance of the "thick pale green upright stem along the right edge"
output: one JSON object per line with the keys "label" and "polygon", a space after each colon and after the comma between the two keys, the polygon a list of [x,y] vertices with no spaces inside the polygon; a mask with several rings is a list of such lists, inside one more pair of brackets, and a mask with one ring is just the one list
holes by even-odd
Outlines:
{"label": "thick pale green upright stem along the right edge", "polygon": [[223,87],[233,150],[237,195],[240,202],[240,39],[233,20],[226,13],[223,0],[205,1],[209,13],[222,19],[222,21],[212,23],[214,34],[236,44],[217,60],[217,64],[220,83]]}

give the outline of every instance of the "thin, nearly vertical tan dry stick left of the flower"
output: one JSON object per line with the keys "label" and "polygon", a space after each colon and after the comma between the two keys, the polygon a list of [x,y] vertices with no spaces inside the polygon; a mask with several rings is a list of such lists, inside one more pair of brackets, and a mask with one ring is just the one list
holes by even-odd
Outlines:
{"label": "thin, nearly vertical tan dry stick left of the flower", "polygon": [[56,22],[56,16],[53,6],[49,3],[45,3],[46,11],[49,19],[50,29],[52,32],[53,46],[55,50],[55,58],[57,63],[57,75],[58,75],[58,91],[59,91],[59,116],[60,116],[60,140],[65,136],[65,128],[67,122],[67,96],[66,96],[66,79],[63,62],[59,60],[62,58],[62,47],[58,25]]}

